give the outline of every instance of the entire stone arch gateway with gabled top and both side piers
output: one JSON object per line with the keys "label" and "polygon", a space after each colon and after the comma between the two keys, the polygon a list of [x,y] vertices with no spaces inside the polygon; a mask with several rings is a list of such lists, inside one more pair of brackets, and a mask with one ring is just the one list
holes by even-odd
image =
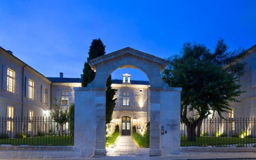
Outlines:
{"label": "entire stone arch gateway with gabled top and both side piers", "polygon": [[105,156],[106,80],[117,68],[138,68],[150,81],[149,156],[180,150],[180,91],[160,75],[167,61],[127,47],[88,62],[96,72],[88,87],[75,90],[75,150],[82,156]]}

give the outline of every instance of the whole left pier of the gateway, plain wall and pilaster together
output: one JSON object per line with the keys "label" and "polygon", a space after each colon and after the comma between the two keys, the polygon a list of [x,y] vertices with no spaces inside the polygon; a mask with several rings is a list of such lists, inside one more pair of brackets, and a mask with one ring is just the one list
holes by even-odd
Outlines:
{"label": "whole left pier of the gateway, plain wall and pilaster together", "polygon": [[74,87],[74,147],[82,157],[106,156],[106,87]]}

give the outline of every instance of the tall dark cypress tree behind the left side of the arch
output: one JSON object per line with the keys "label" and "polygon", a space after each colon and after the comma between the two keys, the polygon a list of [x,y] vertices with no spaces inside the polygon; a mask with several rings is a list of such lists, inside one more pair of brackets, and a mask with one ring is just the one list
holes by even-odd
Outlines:
{"label": "tall dark cypress tree behind the left side of the arch", "polygon": [[[87,84],[92,82],[92,80],[95,77],[95,72],[92,70],[90,65],[88,64],[88,61],[97,58],[99,56],[103,56],[105,54],[105,45],[103,42],[99,39],[93,39],[92,44],[89,49],[89,57],[87,58],[87,62],[84,63],[84,69],[83,69],[83,77],[82,77],[82,87],[87,87]],[[111,75],[108,77],[108,80],[106,82],[107,90],[106,90],[106,124],[110,123],[112,120],[112,114],[115,107],[116,98],[114,99],[114,95],[116,94],[115,89],[111,87],[112,81],[111,81]]]}

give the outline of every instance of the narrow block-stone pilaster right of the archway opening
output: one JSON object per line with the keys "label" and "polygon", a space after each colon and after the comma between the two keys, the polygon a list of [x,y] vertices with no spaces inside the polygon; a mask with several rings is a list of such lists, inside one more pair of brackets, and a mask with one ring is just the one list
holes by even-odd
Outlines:
{"label": "narrow block-stone pilaster right of the archway opening", "polygon": [[161,156],[160,105],[162,88],[150,87],[150,149],[149,156]]}

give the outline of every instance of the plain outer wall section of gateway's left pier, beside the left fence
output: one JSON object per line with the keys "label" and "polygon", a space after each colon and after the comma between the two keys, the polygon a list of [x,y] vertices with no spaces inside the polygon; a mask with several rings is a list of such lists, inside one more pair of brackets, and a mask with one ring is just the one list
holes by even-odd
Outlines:
{"label": "plain outer wall section of gateway's left pier, beside the left fence", "polygon": [[90,157],[95,147],[95,92],[88,87],[74,87],[74,148],[78,157]]}

